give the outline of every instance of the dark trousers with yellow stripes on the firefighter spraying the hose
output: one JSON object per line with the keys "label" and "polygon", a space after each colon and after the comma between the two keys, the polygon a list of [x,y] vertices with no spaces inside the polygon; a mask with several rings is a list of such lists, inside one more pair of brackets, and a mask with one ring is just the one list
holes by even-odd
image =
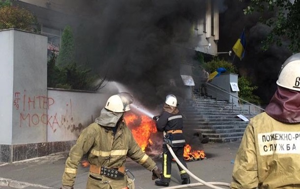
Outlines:
{"label": "dark trousers with yellow stripes on the firefighter spraying the hose", "polygon": [[[168,150],[166,144],[163,144],[162,149],[163,149],[163,162],[162,162],[161,181],[165,183],[170,183],[173,156],[171,152]],[[183,158],[184,147],[172,147],[172,150],[174,151],[175,155],[180,160],[180,162],[187,168],[186,162],[184,161]],[[186,173],[186,171],[183,170],[178,163],[176,164],[179,168],[181,179],[189,178],[189,175]]]}

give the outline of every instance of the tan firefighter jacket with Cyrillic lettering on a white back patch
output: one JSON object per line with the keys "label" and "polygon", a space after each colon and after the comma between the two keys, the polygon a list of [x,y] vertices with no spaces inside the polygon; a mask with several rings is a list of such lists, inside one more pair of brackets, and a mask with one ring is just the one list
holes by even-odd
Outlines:
{"label": "tan firefighter jacket with Cyrillic lettering on a white back patch", "polygon": [[300,123],[263,112],[250,120],[233,168],[232,189],[299,189]]}

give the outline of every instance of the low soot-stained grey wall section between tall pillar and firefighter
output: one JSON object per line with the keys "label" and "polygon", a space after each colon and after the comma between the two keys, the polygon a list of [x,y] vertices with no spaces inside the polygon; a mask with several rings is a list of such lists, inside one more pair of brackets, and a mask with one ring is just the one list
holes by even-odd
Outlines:
{"label": "low soot-stained grey wall section between tall pillar and firefighter", "polygon": [[76,140],[81,131],[100,115],[109,94],[48,90],[47,141]]}

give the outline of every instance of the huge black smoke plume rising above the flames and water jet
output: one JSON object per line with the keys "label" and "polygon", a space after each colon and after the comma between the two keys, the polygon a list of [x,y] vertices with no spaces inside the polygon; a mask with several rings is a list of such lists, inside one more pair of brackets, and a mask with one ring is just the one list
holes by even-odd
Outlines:
{"label": "huge black smoke plume rising above the flames and water jet", "polygon": [[[164,102],[169,93],[184,96],[180,63],[191,50],[178,44],[194,42],[192,26],[205,16],[207,1],[82,3],[81,15],[88,22],[77,23],[77,44],[81,44],[78,58],[101,76],[107,76],[107,80],[128,86],[146,106]],[[172,79],[176,86],[171,84]]]}

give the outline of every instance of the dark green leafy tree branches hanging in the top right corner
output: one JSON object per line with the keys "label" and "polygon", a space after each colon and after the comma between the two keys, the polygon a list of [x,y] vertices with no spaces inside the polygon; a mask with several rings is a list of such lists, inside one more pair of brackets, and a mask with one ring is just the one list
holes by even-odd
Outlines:
{"label": "dark green leafy tree branches hanging in the top right corner", "polygon": [[263,50],[271,44],[282,45],[289,39],[289,50],[300,52],[300,1],[299,0],[250,0],[244,9],[245,14],[253,12],[272,12],[273,17],[261,17],[261,21],[271,27],[267,38],[263,41]]}

